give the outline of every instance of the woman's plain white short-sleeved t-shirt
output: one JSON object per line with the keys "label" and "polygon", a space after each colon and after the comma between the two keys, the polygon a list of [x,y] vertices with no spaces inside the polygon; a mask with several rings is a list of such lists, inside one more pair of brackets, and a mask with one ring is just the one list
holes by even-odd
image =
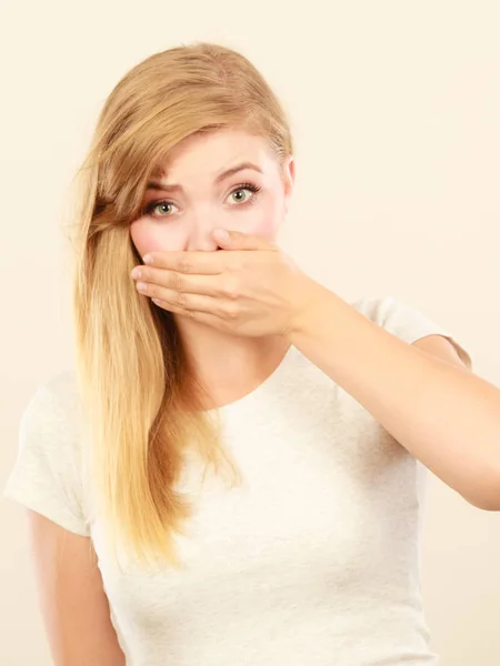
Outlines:
{"label": "woman's plain white short-sleeved t-shirt", "polygon": [[[393,297],[353,306],[408,343],[451,335]],[[220,410],[243,476],[208,483],[184,567],[117,567],[86,512],[73,373],[41,385],[6,494],[90,536],[128,666],[436,665],[420,594],[424,467],[290,347]]]}

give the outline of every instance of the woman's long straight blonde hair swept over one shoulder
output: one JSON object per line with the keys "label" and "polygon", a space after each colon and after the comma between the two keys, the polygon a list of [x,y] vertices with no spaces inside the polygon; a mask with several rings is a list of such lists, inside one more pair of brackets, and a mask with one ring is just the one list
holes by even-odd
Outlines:
{"label": "woman's long straight blonde hair swept over one shoulder", "polygon": [[292,153],[283,110],[241,54],[199,43],[148,58],[117,84],[79,171],[73,285],[77,362],[91,428],[92,483],[113,543],[140,561],[178,562],[191,507],[176,484],[187,447],[223,455],[170,313],[137,293],[129,234],[154,167],[194,132],[242,128]]}

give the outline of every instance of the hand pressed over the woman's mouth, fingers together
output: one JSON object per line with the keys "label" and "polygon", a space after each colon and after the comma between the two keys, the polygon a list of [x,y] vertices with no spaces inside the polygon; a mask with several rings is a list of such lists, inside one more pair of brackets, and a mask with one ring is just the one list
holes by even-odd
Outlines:
{"label": "hand pressed over the woman's mouth, fingers together", "polygon": [[[224,238],[226,233],[226,238]],[[237,335],[287,336],[319,285],[260,236],[214,232],[217,252],[151,252],[131,276],[163,310]]]}

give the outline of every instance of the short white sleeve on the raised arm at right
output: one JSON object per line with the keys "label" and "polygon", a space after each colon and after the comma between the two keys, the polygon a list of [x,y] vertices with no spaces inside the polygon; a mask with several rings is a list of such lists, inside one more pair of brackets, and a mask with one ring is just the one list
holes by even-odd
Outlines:
{"label": "short white sleeve on the raised arm at right", "polygon": [[408,342],[408,344],[413,344],[413,342],[427,335],[442,335],[447,337],[457,350],[462,362],[469,369],[472,367],[469,353],[450,331],[433,322],[427,314],[420,312],[409,303],[394,296],[384,296],[381,299],[367,297],[358,301],[354,307],[372,322],[400,340]]}

